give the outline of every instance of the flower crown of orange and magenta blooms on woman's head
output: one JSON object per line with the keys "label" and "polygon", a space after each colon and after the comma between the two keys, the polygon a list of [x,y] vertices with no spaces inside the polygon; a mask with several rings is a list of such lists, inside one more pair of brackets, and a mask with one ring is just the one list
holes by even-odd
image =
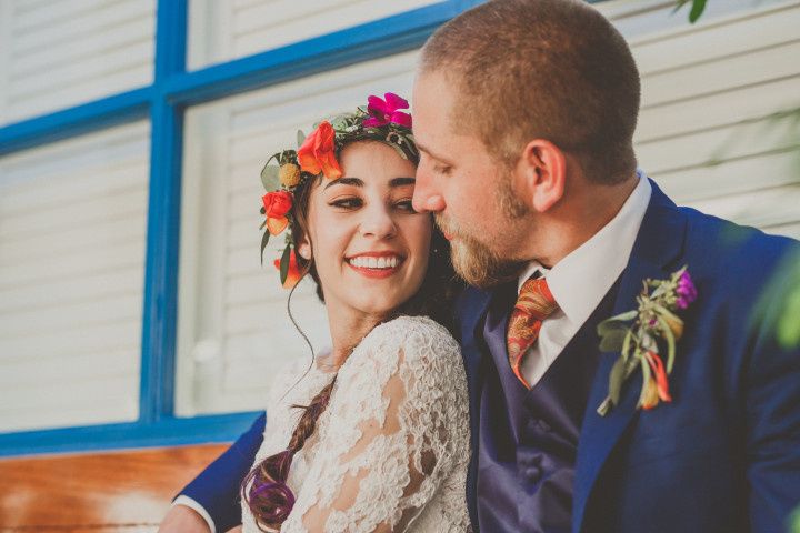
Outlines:
{"label": "flower crown of orange and magenta blooms on woman's head", "polygon": [[[314,125],[306,137],[298,131],[298,149],[282,150],[267,160],[261,170],[261,182],[267,190],[261,214],[267,219],[260,229],[267,228],[261,239],[261,264],[270,235],[286,231],[283,253],[274,260],[280,271],[281,284],[291,289],[300,281],[292,225],[294,223],[294,191],[307,180],[324,175],[338,180],[342,175],[339,165],[341,150],[356,141],[373,140],[392,147],[403,159],[417,163],[419,151],[411,134],[411,114],[408,102],[387,92],[381,99],[369,97],[367,109],[357,108],[354,113],[343,113]],[[270,164],[274,160],[277,164]]]}

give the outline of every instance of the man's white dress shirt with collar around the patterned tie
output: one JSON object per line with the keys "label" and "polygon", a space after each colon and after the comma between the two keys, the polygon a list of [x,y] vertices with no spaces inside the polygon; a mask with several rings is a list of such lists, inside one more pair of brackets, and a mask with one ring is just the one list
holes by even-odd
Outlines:
{"label": "man's white dress shirt with collar around the patterned tie", "polygon": [[626,203],[591,239],[552,269],[531,261],[520,275],[517,294],[522,283],[539,271],[559,304],[558,311],[542,322],[539,339],[522,359],[520,370],[531,386],[544,375],[628,264],[652,192],[647,175],[642,171],[637,171],[637,175],[639,184]]}

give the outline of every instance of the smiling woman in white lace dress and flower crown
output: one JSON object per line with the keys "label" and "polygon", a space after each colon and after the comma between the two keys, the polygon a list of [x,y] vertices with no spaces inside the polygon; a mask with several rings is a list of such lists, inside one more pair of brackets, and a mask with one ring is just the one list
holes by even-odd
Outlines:
{"label": "smiling woman in white lace dress and flower crown", "polygon": [[[464,532],[469,420],[447,241],[411,207],[407,102],[323,121],[262,178],[276,264],[324,301],[332,349],[280,373],[242,483],[242,531]],[[290,294],[291,296],[291,294]],[[302,362],[300,362],[302,363]]]}

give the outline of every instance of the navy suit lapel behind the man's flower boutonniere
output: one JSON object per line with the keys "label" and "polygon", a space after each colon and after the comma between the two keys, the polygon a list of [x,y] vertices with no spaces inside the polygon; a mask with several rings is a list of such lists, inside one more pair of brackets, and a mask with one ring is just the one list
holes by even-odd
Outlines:
{"label": "navy suit lapel behind the man's flower boutonniere", "polygon": [[[686,221],[674,203],[654,182],[647,212],[626,270],[622,272],[613,315],[636,308],[636,296],[646,278],[663,279],[680,265]],[[606,318],[606,316],[604,316]],[[604,319],[603,318],[603,319]],[[599,339],[598,339],[599,342]],[[581,531],[586,505],[598,474],[628,425],[638,416],[636,409],[641,389],[637,372],[626,383],[620,404],[606,416],[597,408],[608,394],[608,376],[619,353],[601,353],[578,445],[572,511],[572,531]]]}

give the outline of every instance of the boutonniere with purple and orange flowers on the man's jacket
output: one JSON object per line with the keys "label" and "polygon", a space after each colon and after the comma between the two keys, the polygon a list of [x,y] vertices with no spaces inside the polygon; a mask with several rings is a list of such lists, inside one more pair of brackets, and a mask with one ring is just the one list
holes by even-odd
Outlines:
{"label": "boutonniere with purple and orange flowers on the man's jacket", "polygon": [[[642,372],[638,408],[649,410],[671,402],[668,376],[672,373],[676,344],[683,334],[683,321],[676,314],[697,299],[697,289],[686,266],[667,280],[642,282],[638,309],[611,316],[598,324],[600,350],[620,352],[609,374],[609,394],[598,406],[604,416],[619,403],[623,383],[637,369]],[[667,361],[660,346],[667,348]]]}

